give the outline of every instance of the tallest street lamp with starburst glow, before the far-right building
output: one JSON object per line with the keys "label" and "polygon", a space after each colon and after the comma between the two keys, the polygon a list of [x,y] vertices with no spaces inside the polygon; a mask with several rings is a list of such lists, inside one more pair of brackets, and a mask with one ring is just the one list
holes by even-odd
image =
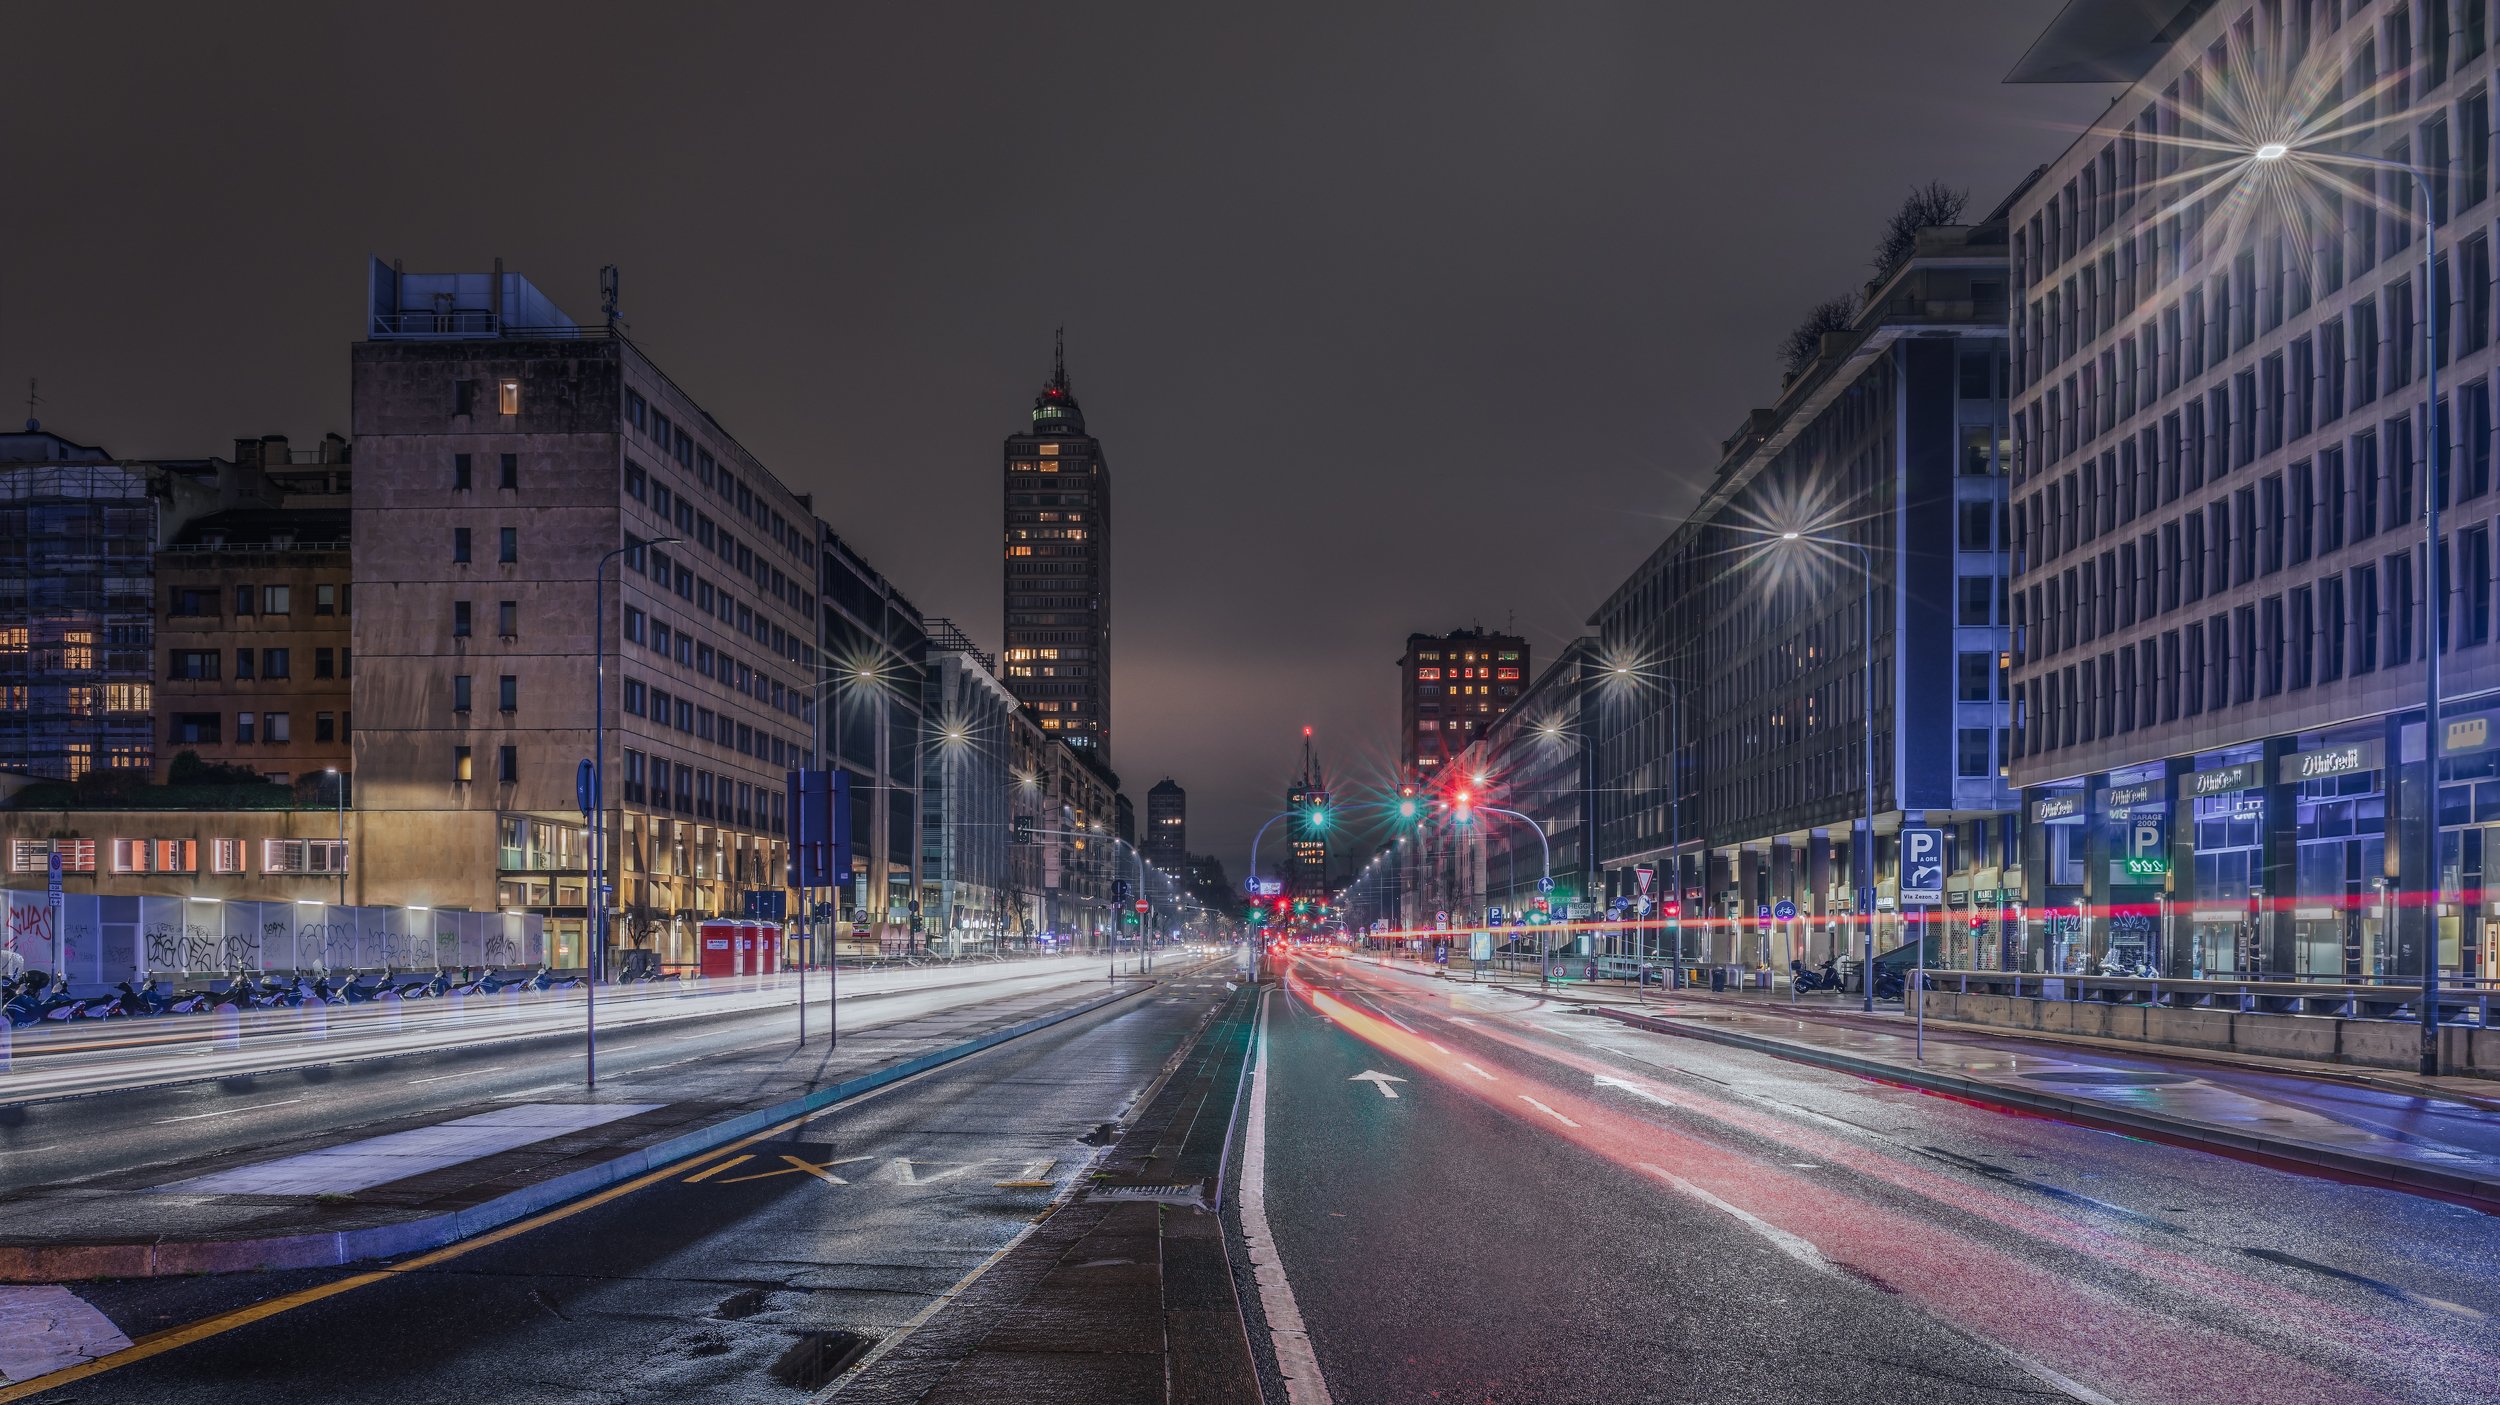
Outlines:
{"label": "tallest street lamp with starburst glow, before the far-right building", "polygon": [[[2260,162],[2280,162],[2292,155],[2288,142],[2262,142],[2250,150]],[[2425,882],[2420,942],[2422,942],[2422,1078],[2440,1072],[2440,625],[2448,615],[2448,598],[2440,592],[2440,465],[2448,440],[2440,438],[2440,208],[2430,195],[2430,178],[2410,160],[2352,152],[2300,152],[2322,162],[2360,165],[2368,170],[2400,170],[2412,178],[2412,190],[2422,200],[2422,822],[2420,822],[2420,875]],[[2402,758],[2398,758],[2402,765]],[[2398,865],[2402,868],[2402,862]],[[2402,912],[2402,908],[2400,908]]]}

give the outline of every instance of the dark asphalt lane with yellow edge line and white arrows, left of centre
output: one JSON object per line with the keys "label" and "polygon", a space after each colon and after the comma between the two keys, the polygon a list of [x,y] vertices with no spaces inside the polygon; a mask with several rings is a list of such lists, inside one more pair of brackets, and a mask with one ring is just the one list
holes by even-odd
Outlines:
{"label": "dark asphalt lane with yellow edge line and white arrows, left of centre", "polygon": [[[1220,972],[830,1108],[738,1160],[35,1400],[805,1400],[1015,1235],[1225,995]],[[332,1272],[88,1285],[140,1338]]]}

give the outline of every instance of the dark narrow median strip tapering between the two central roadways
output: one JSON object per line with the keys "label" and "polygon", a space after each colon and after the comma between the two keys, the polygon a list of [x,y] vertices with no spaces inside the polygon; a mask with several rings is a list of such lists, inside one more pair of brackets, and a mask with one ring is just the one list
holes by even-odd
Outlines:
{"label": "dark narrow median strip tapering between the two central roadways", "polygon": [[1232,992],[1072,1200],[830,1395],[1260,1405],[1215,1210],[1258,992]]}

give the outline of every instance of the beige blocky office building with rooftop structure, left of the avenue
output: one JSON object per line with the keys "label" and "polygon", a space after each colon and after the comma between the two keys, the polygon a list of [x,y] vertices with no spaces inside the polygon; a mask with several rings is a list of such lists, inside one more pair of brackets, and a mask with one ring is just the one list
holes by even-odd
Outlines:
{"label": "beige blocky office building with rooftop structure, left of the avenue", "polygon": [[605,722],[615,942],[688,962],[695,918],[785,882],[785,775],[818,755],[815,512],[638,345],[518,272],[375,260],[370,288],[352,748],[358,808],[395,840],[368,845],[365,878],[540,912],[550,960],[580,965],[575,768]]}

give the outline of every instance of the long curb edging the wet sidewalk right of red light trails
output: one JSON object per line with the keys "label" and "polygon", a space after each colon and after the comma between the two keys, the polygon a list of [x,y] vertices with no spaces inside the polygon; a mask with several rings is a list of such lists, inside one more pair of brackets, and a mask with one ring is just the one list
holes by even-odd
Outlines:
{"label": "long curb edging the wet sidewalk right of red light trails", "polygon": [[2440,1200],[2455,1200],[2485,1212],[2500,1212],[2500,1180],[2485,1180],[2475,1175],[2458,1175],[2430,1165],[2412,1165],[2388,1158],[2375,1158],[2365,1152],[2348,1152],[2335,1148],[2320,1148],[2308,1142],[2280,1142],[2270,1138],[2235,1132],[2230,1128],[2218,1128],[2210,1122],[2190,1122],[2185,1118],[2165,1118],[2160,1112],[2140,1112],[2132,1108],[2112,1108],[2108,1102],[2085,1102],[2078,1098],[2065,1098],[2058,1092],[2045,1092],[2035,1088],[2015,1088],[2005,1082],[1982,1082],[1978,1078],[1960,1078],[1950,1072],[1932,1072],[1925,1068],[1905,1068],[1898,1062],[1880,1062],[1870,1058],[1845,1055],[1838,1050],[1820,1050],[1812,1045],[1795,1045],[1788,1040],[1770,1040],[1760,1035],[1738,1035],[1732,1030],[1702,1030],[1690,1025],[1672,1025],[1650,1015],[1632,1015],[1625,1010],[1590,1010],[1592,1015],[1605,1015],[1622,1025],[1650,1030],[1658,1035],[1678,1035],[1685,1040],[1702,1040],[1712,1045],[1740,1048],[1750,1052],[1765,1052],[1772,1058],[1785,1058],[1790,1062],[1810,1062],[1818,1068],[1830,1068],[1838,1072],[1850,1072],[1858,1078],[1872,1078],[1878,1082],[1898,1082],[1918,1088],[1922,1092],[1942,1092],[1950,1098],[1965,1098],[1970,1102],[1985,1102],[1990,1108],[2005,1108],[2015,1112],[2035,1112],[2045,1118],[2058,1118],[2062,1122],[2078,1122],[2098,1130],[2115,1132],[2142,1132],[2160,1138],[2165,1142],[2188,1142],[2200,1150],[2230,1150],[2252,1155],[2270,1162],[2288,1162],[2308,1170],[2325,1170],[2345,1178],[2358,1178],[2378,1182],[2392,1190],[2410,1190],[2418,1195],[2435,1195]]}

